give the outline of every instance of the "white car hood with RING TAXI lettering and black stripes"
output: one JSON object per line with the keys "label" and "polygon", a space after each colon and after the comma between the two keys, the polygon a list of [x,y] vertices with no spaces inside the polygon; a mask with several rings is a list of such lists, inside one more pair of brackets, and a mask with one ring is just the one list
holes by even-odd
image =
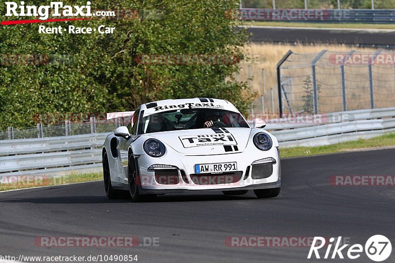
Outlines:
{"label": "white car hood with RING TAXI lettering and black stripes", "polygon": [[250,128],[202,128],[146,134],[185,155],[212,155],[243,151]]}

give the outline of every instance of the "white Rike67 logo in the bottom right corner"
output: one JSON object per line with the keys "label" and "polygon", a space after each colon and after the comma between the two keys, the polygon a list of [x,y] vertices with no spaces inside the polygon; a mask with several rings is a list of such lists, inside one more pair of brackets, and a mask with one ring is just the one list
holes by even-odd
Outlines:
{"label": "white Rike67 logo in the bottom right corner", "polygon": [[[321,259],[318,250],[326,246],[326,252],[322,259],[344,259],[343,253],[346,253],[346,247],[350,244],[344,244],[341,246],[342,237],[339,236],[337,239],[334,237],[329,238],[329,242],[326,243],[326,238],[324,237],[314,237],[313,244],[310,247],[308,259],[312,259],[313,253],[316,259]],[[332,246],[334,245],[334,249],[332,255],[330,256],[330,252]],[[345,251],[343,251],[345,250]],[[342,252],[343,251],[343,252]],[[355,260],[361,256],[363,252],[365,252],[366,256],[375,262],[381,262],[388,259],[391,255],[392,245],[391,241],[383,235],[374,235],[371,236],[365,243],[363,247],[361,244],[354,244],[350,246],[347,250],[347,257],[351,260]]]}

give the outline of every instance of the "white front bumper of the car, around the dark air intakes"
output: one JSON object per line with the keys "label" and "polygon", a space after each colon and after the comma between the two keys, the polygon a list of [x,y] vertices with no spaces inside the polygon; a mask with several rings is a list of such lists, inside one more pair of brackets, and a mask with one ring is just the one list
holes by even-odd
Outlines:
{"label": "white front bumper of the car, around the dark air intakes", "polygon": [[[171,157],[170,157],[171,156]],[[262,179],[252,178],[252,163],[254,161],[273,158],[276,163],[273,164],[270,176]],[[242,172],[241,178],[237,182],[215,183],[215,184],[196,184],[192,179],[195,174],[195,164],[204,163],[226,163],[237,162],[237,171]],[[166,164],[177,167],[178,180],[172,184],[159,184],[155,179],[155,172],[149,171],[153,164]],[[141,183],[139,191],[142,194],[150,193],[182,193],[185,191],[197,190],[249,190],[262,188],[279,188],[281,187],[281,169],[279,150],[273,147],[269,151],[256,150],[255,152],[244,151],[231,154],[204,155],[204,156],[180,156],[179,154],[169,154],[164,158],[153,158],[142,155],[138,158],[138,170],[140,172]],[[182,174],[182,171],[185,173]],[[174,173],[173,173],[174,176]],[[184,180],[185,176],[187,180]],[[201,176],[206,176],[202,174]],[[187,181],[187,182],[186,182]]]}

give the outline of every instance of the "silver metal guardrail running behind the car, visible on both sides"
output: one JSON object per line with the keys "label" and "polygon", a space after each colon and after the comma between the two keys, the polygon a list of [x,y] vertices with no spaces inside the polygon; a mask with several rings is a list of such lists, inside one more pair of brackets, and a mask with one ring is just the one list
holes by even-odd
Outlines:
{"label": "silver metal guardrail running behind the car, visible on both sides", "polygon": [[[300,122],[319,119],[316,123]],[[395,108],[267,120],[280,147],[321,146],[395,131]],[[109,133],[0,141],[0,177],[100,171]]]}

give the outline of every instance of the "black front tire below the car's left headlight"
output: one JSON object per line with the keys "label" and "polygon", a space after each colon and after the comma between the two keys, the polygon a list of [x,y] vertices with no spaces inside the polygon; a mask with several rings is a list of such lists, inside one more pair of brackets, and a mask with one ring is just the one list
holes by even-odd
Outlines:
{"label": "black front tire below the car's left headlight", "polygon": [[133,154],[129,155],[127,165],[127,181],[129,185],[129,193],[133,202],[144,202],[155,198],[156,194],[140,194],[138,186],[140,186],[140,176],[136,172],[136,163]]}

